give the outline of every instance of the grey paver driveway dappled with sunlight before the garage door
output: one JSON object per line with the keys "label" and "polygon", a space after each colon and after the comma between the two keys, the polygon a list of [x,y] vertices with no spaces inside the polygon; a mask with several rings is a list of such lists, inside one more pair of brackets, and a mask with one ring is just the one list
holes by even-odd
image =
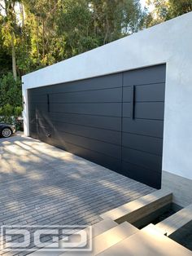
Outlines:
{"label": "grey paver driveway dappled with sunlight before the garage door", "polygon": [[0,224],[93,224],[154,191],[36,139],[0,139]]}

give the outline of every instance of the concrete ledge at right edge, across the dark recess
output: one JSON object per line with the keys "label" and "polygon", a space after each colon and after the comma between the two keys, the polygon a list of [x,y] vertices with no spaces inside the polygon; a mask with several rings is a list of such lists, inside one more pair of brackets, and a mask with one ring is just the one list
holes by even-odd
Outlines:
{"label": "concrete ledge at right edge, across the dark recess", "polygon": [[182,210],[177,211],[170,217],[165,218],[162,222],[155,225],[166,236],[172,239],[182,236],[192,227],[192,204]]}

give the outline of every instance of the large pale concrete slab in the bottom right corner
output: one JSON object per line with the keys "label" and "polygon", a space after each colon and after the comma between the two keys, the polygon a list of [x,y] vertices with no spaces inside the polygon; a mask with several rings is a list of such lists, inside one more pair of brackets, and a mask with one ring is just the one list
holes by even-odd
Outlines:
{"label": "large pale concrete slab in the bottom right corner", "polygon": [[155,225],[142,228],[98,256],[192,256],[192,252],[164,236]]}

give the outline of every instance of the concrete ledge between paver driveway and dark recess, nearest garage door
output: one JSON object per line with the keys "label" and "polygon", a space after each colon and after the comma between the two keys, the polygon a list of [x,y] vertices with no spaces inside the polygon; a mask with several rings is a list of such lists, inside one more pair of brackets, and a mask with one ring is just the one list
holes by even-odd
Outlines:
{"label": "concrete ledge between paver driveway and dark recess, nearest garage door", "polygon": [[[157,190],[142,196],[137,200],[131,201],[127,204],[121,205],[114,210],[107,211],[105,214],[100,215],[102,218],[111,218],[116,223],[137,223],[140,219],[149,217],[150,214],[155,213],[159,215],[159,210],[164,209],[167,205],[172,203],[172,192],[165,190]],[[149,221],[148,219],[147,221]],[[147,223],[147,222],[146,222]]]}

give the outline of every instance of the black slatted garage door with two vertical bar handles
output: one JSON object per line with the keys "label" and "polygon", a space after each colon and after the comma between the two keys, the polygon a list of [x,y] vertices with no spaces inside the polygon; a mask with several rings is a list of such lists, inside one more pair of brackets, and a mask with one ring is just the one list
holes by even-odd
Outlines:
{"label": "black slatted garage door with two vertical bar handles", "polygon": [[30,136],[160,188],[165,65],[28,90]]}

